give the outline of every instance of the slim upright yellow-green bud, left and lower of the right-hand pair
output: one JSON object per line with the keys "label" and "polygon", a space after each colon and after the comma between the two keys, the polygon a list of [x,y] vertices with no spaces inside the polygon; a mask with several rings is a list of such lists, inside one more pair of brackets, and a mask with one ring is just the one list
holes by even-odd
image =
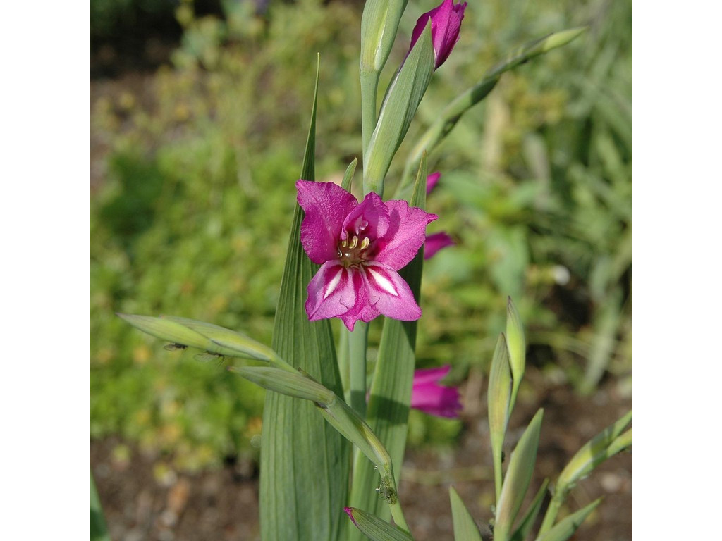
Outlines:
{"label": "slim upright yellow-green bud, left and lower of the right-hand pair", "polygon": [[487,391],[487,410],[489,413],[489,437],[494,459],[494,483],[496,498],[499,501],[502,485],[502,452],[504,434],[509,421],[509,401],[511,396],[511,371],[509,354],[504,335],[499,335],[492,358]]}

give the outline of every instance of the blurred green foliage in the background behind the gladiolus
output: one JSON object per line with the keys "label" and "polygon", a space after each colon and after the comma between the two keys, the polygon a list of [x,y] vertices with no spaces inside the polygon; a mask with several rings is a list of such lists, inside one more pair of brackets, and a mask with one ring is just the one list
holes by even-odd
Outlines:
{"label": "blurred green foliage in the background behind the gladiolus", "polygon": [[[433,4],[409,2],[387,80]],[[191,470],[256,456],[262,392],[164,351],[114,312],[183,315],[270,343],[317,51],[317,177],[340,179],[361,144],[360,5],[222,6],[224,17],[196,17],[181,2],[173,66],[92,105],[104,152],[91,192],[91,436],[172,452]],[[425,265],[419,366],[451,363],[457,380],[486,369],[512,295],[549,377],[581,392],[604,374],[630,380],[629,1],[471,2],[388,189],[414,137],[497,58],[583,24],[586,35],[505,74],[430,155],[443,172],[430,232],[458,245]],[[412,413],[412,444],[460,428]]]}

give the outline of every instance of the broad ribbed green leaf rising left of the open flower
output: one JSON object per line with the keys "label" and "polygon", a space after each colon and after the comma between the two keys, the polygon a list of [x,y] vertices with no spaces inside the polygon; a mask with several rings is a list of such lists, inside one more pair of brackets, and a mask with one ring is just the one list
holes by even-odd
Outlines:
{"label": "broad ribbed green leaf rising left of the open flower", "polygon": [[[315,180],[316,93],[301,178]],[[303,304],[318,267],[300,245],[295,207],[274,323],[273,349],[285,361],[342,394],[329,320],[309,322]],[[349,444],[313,403],[266,392],[261,444],[261,536],[266,541],[336,540],[345,528]]]}

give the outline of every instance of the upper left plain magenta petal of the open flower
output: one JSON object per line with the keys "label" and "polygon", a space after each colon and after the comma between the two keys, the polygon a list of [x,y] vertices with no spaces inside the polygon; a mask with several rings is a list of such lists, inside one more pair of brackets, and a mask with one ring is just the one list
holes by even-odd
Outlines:
{"label": "upper left plain magenta petal of the open flower", "polygon": [[301,245],[313,263],[338,257],[344,219],[358,206],[356,198],[333,182],[298,180],[297,201],[305,216],[301,222]]}

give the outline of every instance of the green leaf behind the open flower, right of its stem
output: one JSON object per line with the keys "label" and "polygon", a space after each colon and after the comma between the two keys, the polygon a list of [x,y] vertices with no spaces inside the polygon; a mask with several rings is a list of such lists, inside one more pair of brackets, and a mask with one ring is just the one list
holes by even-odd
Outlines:
{"label": "green leaf behind the open flower, right of its stem", "polygon": [[[424,208],[426,203],[426,160],[417,175],[412,206]],[[423,248],[400,274],[409,284],[416,299],[421,289],[421,273],[424,263]],[[367,406],[367,423],[388,449],[391,462],[398,475],[406,449],[406,423],[409,418],[411,389],[414,379],[414,348],[416,347],[417,322],[386,318],[378,348],[378,361],[373,375]],[[365,460],[356,459],[351,490],[351,506],[388,519],[389,511],[375,492],[377,473]],[[398,482],[398,479],[397,479]],[[360,539],[354,537],[351,539]]]}

